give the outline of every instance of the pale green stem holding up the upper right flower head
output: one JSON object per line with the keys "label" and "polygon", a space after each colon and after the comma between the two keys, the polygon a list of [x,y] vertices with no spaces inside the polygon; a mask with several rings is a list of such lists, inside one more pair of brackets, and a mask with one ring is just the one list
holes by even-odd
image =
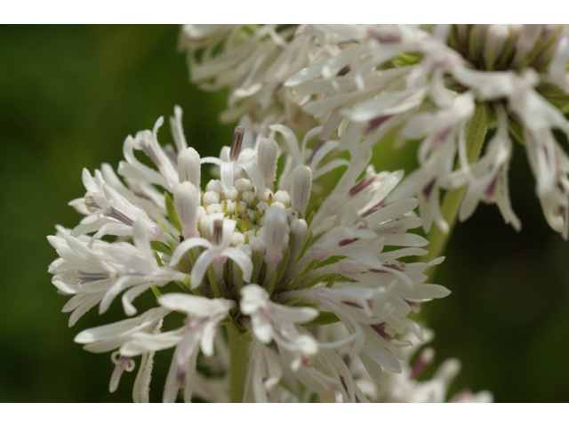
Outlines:
{"label": "pale green stem holding up the upper right flower head", "polygon": [[[466,149],[470,165],[476,162],[478,157],[480,157],[486,130],[486,107],[485,104],[479,104],[466,128]],[[448,223],[449,231],[445,234],[437,226],[433,226],[429,232],[429,236],[427,236],[429,246],[425,247],[429,251],[429,254],[421,257],[420,262],[432,261],[443,254],[446,243],[453,232],[462,197],[464,197],[466,189],[465,186],[460,189],[451,189],[445,192],[445,197],[443,197],[443,203],[441,205],[441,214],[443,214],[443,218],[445,218],[445,221]],[[433,272],[434,271],[431,271],[431,277]]]}

